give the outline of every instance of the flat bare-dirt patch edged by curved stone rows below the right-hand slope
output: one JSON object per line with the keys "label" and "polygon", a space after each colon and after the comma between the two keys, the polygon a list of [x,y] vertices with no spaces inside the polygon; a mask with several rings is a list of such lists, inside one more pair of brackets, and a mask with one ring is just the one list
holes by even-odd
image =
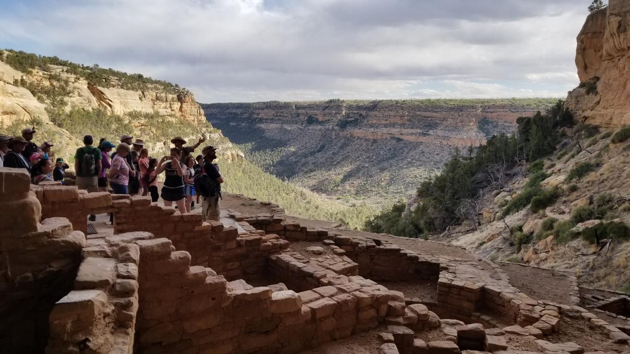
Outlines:
{"label": "flat bare-dirt patch edged by curved stone rows below the right-hand slope", "polygon": [[571,304],[573,284],[564,273],[510,263],[500,266],[510,277],[510,283],[533,299]]}

